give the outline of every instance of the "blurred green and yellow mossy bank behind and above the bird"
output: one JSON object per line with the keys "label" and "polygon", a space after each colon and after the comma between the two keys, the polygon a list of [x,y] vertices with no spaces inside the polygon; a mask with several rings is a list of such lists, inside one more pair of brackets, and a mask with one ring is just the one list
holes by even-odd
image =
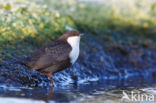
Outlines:
{"label": "blurred green and yellow mossy bank behind and above the bird", "polygon": [[106,5],[76,0],[4,0],[0,4],[0,58],[7,53],[32,52],[58,38],[67,31],[66,26],[97,36],[113,31],[156,40],[156,3],[124,1],[110,0]]}

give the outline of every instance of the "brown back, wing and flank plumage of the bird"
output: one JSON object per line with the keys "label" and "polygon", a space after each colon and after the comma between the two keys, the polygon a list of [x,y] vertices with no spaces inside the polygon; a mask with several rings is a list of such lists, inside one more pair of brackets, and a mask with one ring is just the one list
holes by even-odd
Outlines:
{"label": "brown back, wing and flank plumage of the bird", "polygon": [[68,43],[56,40],[40,48],[22,61],[32,70],[44,72],[45,69],[46,72],[56,72],[56,70],[52,69],[65,69],[67,67],[65,66],[66,63],[70,63],[69,53],[71,49]]}

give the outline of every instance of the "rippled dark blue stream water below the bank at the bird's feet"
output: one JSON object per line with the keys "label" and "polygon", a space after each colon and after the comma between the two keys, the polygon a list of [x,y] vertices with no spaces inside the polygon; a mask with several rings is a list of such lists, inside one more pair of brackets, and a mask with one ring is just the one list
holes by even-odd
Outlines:
{"label": "rippled dark blue stream water below the bank at the bird's feet", "polygon": [[[126,84],[126,86],[125,86]],[[119,102],[122,97],[123,90],[126,93],[130,91],[142,91],[154,94],[156,92],[155,83],[149,84],[146,81],[121,81],[118,80],[103,80],[99,82],[86,82],[83,84],[69,84],[59,87],[45,87],[45,88],[28,88],[28,87],[7,87],[5,85],[0,87],[1,97],[18,97],[30,98],[34,100],[43,100],[46,103],[52,102],[91,102],[96,101],[111,101],[112,103]],[[148,87],[148,88],[147,88]],[[150,89],[149,89],[150,88]],[[156,94],[154,94],[156,95]],[[4,101],[4,99],[3,99]],[[8,102],[4,102],[8,103]],[[38,103],[38,102],[37,102]]]}

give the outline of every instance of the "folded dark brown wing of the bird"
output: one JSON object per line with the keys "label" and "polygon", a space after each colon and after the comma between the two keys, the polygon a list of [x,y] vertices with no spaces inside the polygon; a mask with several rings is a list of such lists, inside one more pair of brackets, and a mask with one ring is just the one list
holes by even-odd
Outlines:
{"label": "folded dark brown wing of the bird", "polygon": [[27,66],[29,66],[30,69],[38,70],[68,60],[71,49],[69,44],[55,41],[55,43],[42,47],[28,57]]}

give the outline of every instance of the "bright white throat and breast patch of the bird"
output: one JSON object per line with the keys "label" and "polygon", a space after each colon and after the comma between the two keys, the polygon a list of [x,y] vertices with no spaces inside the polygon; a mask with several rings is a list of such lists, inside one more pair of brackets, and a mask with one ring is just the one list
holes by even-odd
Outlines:
{"label": "bright white throat and breast patch of the bird", "polygon": [[69,57],[70,57],[70,62],[74,64],[79,56],[80,37],[79,36],[69,37],[67,39],[67,42],[72,47],[72,51],[70,52]]}

